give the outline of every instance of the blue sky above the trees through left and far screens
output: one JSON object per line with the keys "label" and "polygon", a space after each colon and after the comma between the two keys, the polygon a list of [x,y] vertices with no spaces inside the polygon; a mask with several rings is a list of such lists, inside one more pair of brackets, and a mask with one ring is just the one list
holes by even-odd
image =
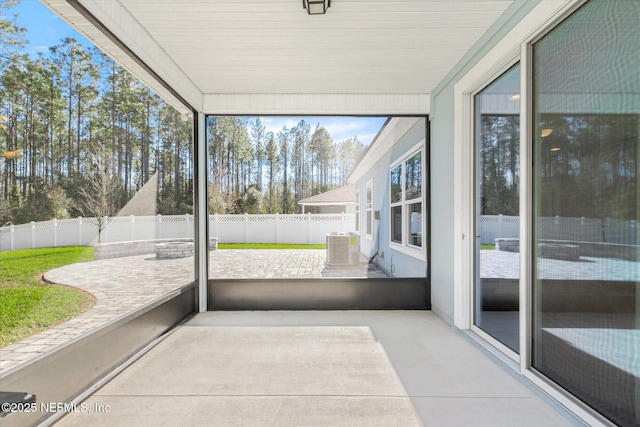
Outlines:
{"label": "blue sky above the trees through left and far screens", "polygon": [[[21,0],[12,12],[19,15],[18,25],[27,29],[29,44],[25,47],[25,52],[30,55],[46,53],[51,46],[58,44],[65,37],[74,37],[83,45],[91,46],[80,33],[38,0]],[[302,119],[311,125],[312,131],[320,123],[334,141],[357,136],[368,145],[384,124],[386,117],[261,117],[267,131],[276,134],[283,126],[291,128]]]}

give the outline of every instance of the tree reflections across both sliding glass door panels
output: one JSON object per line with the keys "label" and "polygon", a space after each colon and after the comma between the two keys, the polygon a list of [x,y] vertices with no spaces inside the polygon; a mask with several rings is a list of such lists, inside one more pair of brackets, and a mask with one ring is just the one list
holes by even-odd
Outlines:
{"label": "tree reflections across both sliding glass door panels", "polygon": [[[480,213],[519,215],[519,117],[483,115],[480,124]],[[537,215],[635,220],[639,125],[637,114],[540,114]]]}

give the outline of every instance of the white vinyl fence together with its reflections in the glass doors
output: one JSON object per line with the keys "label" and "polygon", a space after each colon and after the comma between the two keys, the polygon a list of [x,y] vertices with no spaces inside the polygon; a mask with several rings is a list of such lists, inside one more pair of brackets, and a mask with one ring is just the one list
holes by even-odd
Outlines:
{"label": "white vinyl fence together with its reflections in the glass doors", "polygon": [[[483,215],[482,244],[496,238],[517,238],[520,218]],[[102,242],[193,238],[193,215],[127,216],[109,219]],[[354,231],[355,214],[211,215],[209,235],[220,243],[325,243],[327,233]],[[539,236],[549,240],[636,244],[635,221],[610,218],[546,217],[538,221]],[[0,227],[0,251],[55,246],[88,246],[98,242],[95,218],[59,219]]]}

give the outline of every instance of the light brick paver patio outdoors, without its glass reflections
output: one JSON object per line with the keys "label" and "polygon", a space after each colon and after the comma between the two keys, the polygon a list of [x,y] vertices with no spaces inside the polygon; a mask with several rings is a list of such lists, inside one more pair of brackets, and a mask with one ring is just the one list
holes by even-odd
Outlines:
{"label": "light brick paver patio outdoors, without its glass reflections", "polygon": [[[376,269],[325,267],[325,250],[225,249],[210,252],[212,278],[386,277]],[[71,264],[47,272],[52,283],[90,292],[96,304],[86,313],[0,349],[0,373],[78,339],[92,330],[193,281],[193,258],[154,255]]]}

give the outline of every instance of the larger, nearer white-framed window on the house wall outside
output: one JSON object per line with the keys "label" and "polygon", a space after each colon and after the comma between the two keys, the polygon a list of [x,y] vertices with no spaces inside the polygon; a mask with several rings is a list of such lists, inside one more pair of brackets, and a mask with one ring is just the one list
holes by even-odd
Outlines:
{"label": "larger, nearer white-framed window on the house wall outside", "polygon": [[390,173],[390,240],[403,248],[422,249],[422,149],[411,151]]}

